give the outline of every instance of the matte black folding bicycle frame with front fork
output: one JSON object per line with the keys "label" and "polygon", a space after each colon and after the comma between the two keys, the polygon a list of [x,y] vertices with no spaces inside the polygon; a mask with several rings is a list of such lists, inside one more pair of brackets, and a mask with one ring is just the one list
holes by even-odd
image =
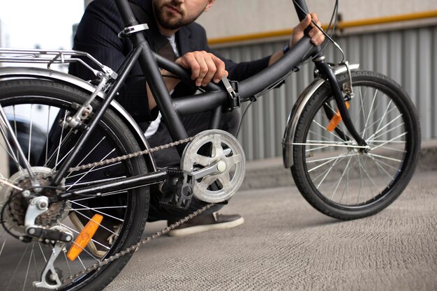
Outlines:
{"label": "matte black folding bicycle frame with front fork", "polygon": [[[306,11],[308,11],[306,8],[306,2],[305,0],[293,1],[295,3],[299,20],[302,21],[304,17],[306,17]],[[124,23],[126,24],[126,27],[138,25],[128,1],[115,0],[115,2],[117,3],[117,7],[121,17],[124,20]],[[304,11],[302,11],[302,9]],[[260,73],[257,73],[256,75],[239,82],[239,90],[237,92],[238,97],[242,102],[251,100],[255,94],[260,93],[265,88],[270,87],[272,84],[276,84],[276,82],[282,80],[290,73],[290,71],[293,70],[293,68],[296,68],[299,64],[302,64],[302,62],[306,61],[306,59],[309,59],[310,57],[317,57],[315,61],[316,67],[320,70],[320,73],[323,75],[323,77],[329,80],[329,84],[331,84],[333,94],[336,98],[336,102],[339,105],[341,117],[343,117],[346,128],[348,128],[351,135],[353,135],[355,140],[357,140],[358,144],[364,145],[364,140],[362,140],[360,135],[356,132],[352,121],[350,120],[348,110],[344,104],[343,95],[341,94],[341,89],[339,88],[339,84],[336,82],[334,73],[323,61],[325,57],[320,52],[320,47],[316,47],[311,43],[311,39],[307,36],[307,33],[308,30],[306,30],[306,36],[299,40],[298,43],[293,45],[289,52],[281,57],[279,61],[276,61],[274,64],[272,64],[272,66],[265,68]],[[131,36],[129,36],[129,38],[133,43],[133,51],[128,54],[128,57],[126,57],[126,60],[120,66],[119,71],[117,72],[119,77],[112,85],[112,88],[105,97],[105,100],[103,100],[101,107],[97,110],[96,115],[90,121],[89,130],[87,130],[80,137],[80,140],[77,142],[77,146],[75,149],[73,149],[71,154],[69,154],[65,163],[61,166],[59,172],[57,172],[56,177],[54,177],[54,185],[60,184],[63,177],[65,177],[66,172],[68,172],[68,169],[73,163],[73,158],[84,148],[84,145],[86,144],[92,131],[94,128],[96,128],[98,122],[103,116],[103,113],[109,107],[111,101],[114,99],[114,96],[116,96],[117,91],[119,91],[121,84],[124,83],[128,73],[137,61],[139,61],[147,84],[149,84],[151,93],[153,94],[158,108],[161,111],[165,124],[170,124],[170,126],[168,126],[168,130],[172,140],[182,140],[188,137],[184,125],[182,124],[180,117],[181,115],[213,111],[210,125],[213,127],[218,126],[222,111],[221,109],[223,106],[225,106],[229,98],[228,91],[226,91],[224,87],[220,87],[211,83],[204,88],[205,92],[202,94],[186,96],[173,100],[168,92],[167,87],[165,87],[165,83],[159,68],[164,68],[170,73],[177,75],[182,82],[186,82],[195,86],[193,80],[191,80],[191,73],[177,64],[159,56],[155,52],[152,52],[149,47],[149,43],[147,43],[147,40],[145,40],[145,36],[142,32],[133,33]],[[177,149],[179,154],[182,154],[184,145],[179,146]],[[166,175],[162,172],[157,175],[142,174],[137,177],[130,177],[105,183],[105,185],[101,188],[91,186],[76,189],[75,191],[78,193],[80,192],[80,195],[91,195],[96,193],[96,191],[114,191],[131,186],[154,184],[158,183],[159,181],[163,181],[165,177]],[[74,195],[71,193],[64,193],[64,195],[61,195],[59,199],[71,199],[72,196]]]}

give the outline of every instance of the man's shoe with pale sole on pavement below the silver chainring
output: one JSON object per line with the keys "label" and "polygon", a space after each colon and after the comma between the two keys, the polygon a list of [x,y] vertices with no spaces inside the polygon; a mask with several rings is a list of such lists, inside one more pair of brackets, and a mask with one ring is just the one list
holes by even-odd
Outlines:
{"label": "man's shoe with pale sole on pavement below the silver chainring", "polygon": [[[168,221],[170,226],[177,221]],[[168,235],[171,237],[181,237],[187,234],[194,234],[197,232],[206,232],[207,230],[224,230],[226,228],[236,227],[244,223],[244,218],[238,214],[226,215],[214,212],[213,214],[205,216],[196,216],[186,223],[182,223],[175,229],[170,230]]]}

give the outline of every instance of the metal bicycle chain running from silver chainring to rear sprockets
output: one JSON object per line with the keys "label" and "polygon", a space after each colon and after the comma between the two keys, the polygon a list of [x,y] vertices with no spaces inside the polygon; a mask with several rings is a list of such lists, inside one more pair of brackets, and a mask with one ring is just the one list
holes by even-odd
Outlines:
{"label": "metal bicycle chain running from silver chainring to rear sprockets", "polygon": [[[96,162],[96,163],[89,163],[86,165],[80,165],[78,167],[71,167],[68,172],[75,172],[75,171],[79,171],[79,170],[87,170],[90,169],[92,167],[98,167],[101,165],[108,165],[110,163],[116,163],[116,162],[120,162],[120,161],[124,161],[127,160],[128,158],[135,158],[137,156],[142,156],[145,154],[150,154],[153,153],[154,151],[160,151],[162,149],[169,149],[170,147],[175,147],[179,144],[184,144],[186,142],[191,142],[194,139],[194,137],[188,137],[186,139],[183,140],[177,140],[176,142],[170,142],[169,144],[163,144],[161,146],[158,147],[153,147],[151,149],[145,149],[143,151],[137,151],[133,154],[127,154],[124,156],[117,156],[116,158],[109,158],[107,160],[104,161],[100,161],[100,162]],[[145,239],[142,239],[141,241],[139,241],[137,244],[134,244],[126,249],[124,249],[123,251],[120,251],[119,253],[116,253],[114,255],[111,255],[110,258],[106,258],[105,260],[99,261],[96,264],[93,264],[91,267],[88,267],[87,269],[83,269],[82,271],[80,271],[79,273],[75,274],[75,275],[71,275],[68,276],[68,278],[65,278],[62,283],[66,284],[68,282],[73,282],[76,278],[79,278],[80,276],[87,274],[91,271],[97,270],[99,268],[105,267],[107,264],[110,264],[110,262],[113,262],[114,260],[117,260],[121,257],[123,257],[124,255],[127,255],[128,253],[132,253],[133,251],[136,251],[140,246],[143,246],[145,244],[147,244],[147,242],[151,241],[152,239],[156,239],[157,237],[161,237],[161,235],[166,234],[168,232],[170,232],[170,230],[175,229],[175,227],[178,227],[179,225],[182,225],[182,223],[186,223],[186,221],[194,218],[195,216],[198,216],[199,214],[201,214],[202,212],[206,211],[207,209],[213,207],[215,205],[215,203],[210,203],[205,205],[205,207],[202,207],[196,211],[194,211],[192,214],[189,214],[188,216],[185,216],[184,218],[182,218],[181,220],[177,221],[176,223],[173,223],[172,225],[165,227],[163,230],[156,232],[155,234],[152,234],[150,237],[146,237]]]}

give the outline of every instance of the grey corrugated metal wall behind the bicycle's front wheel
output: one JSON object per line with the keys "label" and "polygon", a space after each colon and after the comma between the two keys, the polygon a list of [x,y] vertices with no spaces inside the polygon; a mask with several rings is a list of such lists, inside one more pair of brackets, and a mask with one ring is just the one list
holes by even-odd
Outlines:
{"label": "grey corrugated metal wall behind the bicycle's front wheel", "polygon": [[[408,92],[420,113],[422,138],[437,137],[437,26],[378,31],[336,37],[352,63],[392,77]],[[250,61],[276,52],[285,41],[235,47],[216,47],[234,61]],[[325,50],[328,61],[340,61],[333,45]],[[255,102],[246,113],[239,140],[248,160],[282,155],[283,130],[292,105],[313,80],[313,64],[294,73],[279,89]],[[242,110],[246,105],[242,106]]]}

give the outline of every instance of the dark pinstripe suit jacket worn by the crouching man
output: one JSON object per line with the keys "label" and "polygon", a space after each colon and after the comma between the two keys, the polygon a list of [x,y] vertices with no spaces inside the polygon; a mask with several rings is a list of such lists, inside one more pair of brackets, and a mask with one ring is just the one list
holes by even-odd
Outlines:
{"label": "dark pinstripe suit jacket worn by the crouching man", "polygon": [[[150,19],[154,20],[151,10],[151,0],[130,0],[143,7],[149,14]],[[88,52],[101,63],[116,70],[128,52],[132,49],[132,43],[128,38],[123,40],[117,37],[119,31],[124,29],[123,21],[117,10],[114,0],[94,0],[92,1],[77,27],[77,33],[74,38],[74,49]],[[149,23],[149,30],[158,29],[156,22]],[[145,32],[146,38],[151,42]],[[200,24],[192,23],[182,27],[176,33],[176,43],[181,55],[187,52],[205,50],[216,54],[225,62],[226,69],[229,72],[231,80],[241,81],[258,73],[268,66],[269,57],[256,61],[235,63],[222,57],[218,52],[211,50],[207,44],[207,35],[205,29]],[[152,50],[154,45],[151,45]],[[87,68],[80,64],[71,64],[69,72],[84,80],[93,80],[95,77]],[[141,77],[142,70],[137,64],[131,71],[126,80],[126,84],[119,92],[117,100],[126,110],[138,121],[149,121],[156,117],[156,110],[150,112],[145,78]],[[175,89],[174,96],[186,96],[192,94],[192,89],[184,84],[179,84]]]}

